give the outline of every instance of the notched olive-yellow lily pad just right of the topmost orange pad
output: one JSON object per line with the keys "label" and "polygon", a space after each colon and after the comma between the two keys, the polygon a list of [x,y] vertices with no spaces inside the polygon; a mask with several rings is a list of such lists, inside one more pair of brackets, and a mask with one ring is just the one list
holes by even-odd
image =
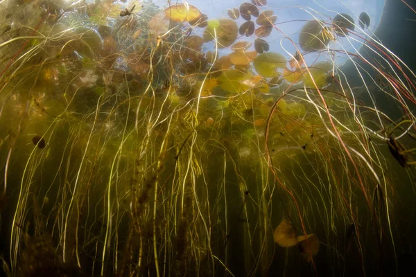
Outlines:
{"label": "notched olive-yellow lily pad just right of the topmost orange pad", "polygon": [[236,22],[231,19],[222,18],[218,20],[209,20],[203,37],[205,42],[210,42],[215,39],[216,35],[218,48],[225,48],[234,44],[239,35],[238,31],[239,27]]}

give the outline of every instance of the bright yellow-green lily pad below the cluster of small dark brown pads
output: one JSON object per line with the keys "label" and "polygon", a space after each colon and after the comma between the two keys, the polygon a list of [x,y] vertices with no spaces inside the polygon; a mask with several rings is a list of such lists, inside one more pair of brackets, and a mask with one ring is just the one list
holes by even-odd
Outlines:
{"label": "bright yellow-green lily pad below the cluster of small dark brown pads", "polygon": [[286,58],[275,52],[263,53],[254,59],[253,65],[254,69],[261,76],[272,78],[279,75],[276,69],[284,69],[286,67]]}

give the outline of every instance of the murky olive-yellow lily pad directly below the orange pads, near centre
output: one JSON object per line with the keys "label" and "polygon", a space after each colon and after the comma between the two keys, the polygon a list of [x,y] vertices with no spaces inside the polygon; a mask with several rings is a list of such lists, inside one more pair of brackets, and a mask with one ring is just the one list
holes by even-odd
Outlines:
{"label": "murky olive-yellow lily pad directly below the orange pads, near centre", "polygon": [[218,84],[225,91],[240,93],[250,88],[244,81],[249,80],[251,77],[252,74],[250,72],[229,69],[218,77]]}

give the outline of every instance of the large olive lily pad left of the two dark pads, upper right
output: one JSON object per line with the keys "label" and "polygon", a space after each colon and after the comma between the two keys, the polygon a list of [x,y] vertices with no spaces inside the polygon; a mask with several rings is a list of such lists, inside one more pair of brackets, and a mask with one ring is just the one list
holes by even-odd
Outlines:
{"label": "large olive lily pad left of the two dark pads, upper right", "polygon": [[331,37],[326,35],[326,27],[321,21],[312,20],[306,23],[299,34],[300,48],[304,51],[320,50],[329,44]]}

